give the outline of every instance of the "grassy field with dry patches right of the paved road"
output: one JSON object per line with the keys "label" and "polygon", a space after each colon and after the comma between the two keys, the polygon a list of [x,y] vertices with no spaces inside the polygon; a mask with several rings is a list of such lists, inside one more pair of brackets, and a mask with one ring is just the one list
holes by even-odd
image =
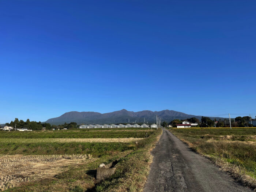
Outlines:
{"label": "grassy field with dry patches right of the paved road", "polygon": [[256,188],[256,128],[172,128],[169,131],[244,184]]}

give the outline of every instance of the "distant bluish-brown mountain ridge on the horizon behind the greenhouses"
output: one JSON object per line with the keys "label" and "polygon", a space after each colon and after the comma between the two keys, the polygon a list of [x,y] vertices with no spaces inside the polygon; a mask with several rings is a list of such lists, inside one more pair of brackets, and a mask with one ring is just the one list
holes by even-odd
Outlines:
{"label": "distant bluish-brown mountain ridge on the horizon behind the greenhouses", "polygon": [[[126,109],[122,109],[119,111],[114,111],[110,113],[98,113],[98,112],[76,112],[71,111],[64,113],[60,117],[50,118],[46,121],[46,123],[50,123],[53,125],[59,125],[76,122],[78,124],[115,124],[115,123],[130,123],[132,122],[144,122],[144,118],[146,122],[153,123],[156,121],[156,116],[159,116],[162,121],[172,121],[174,119],[186,119],[191,117],[196,117],[201,119],[202,116],[190,115],[182,112],[177,112],[174,110],[162,110],[162,111],[150,111],[143,110],[139,112],[128,111]],[[211,117],[212,119],[214,117]],[[219,118],[219,117],[218,117]]]}

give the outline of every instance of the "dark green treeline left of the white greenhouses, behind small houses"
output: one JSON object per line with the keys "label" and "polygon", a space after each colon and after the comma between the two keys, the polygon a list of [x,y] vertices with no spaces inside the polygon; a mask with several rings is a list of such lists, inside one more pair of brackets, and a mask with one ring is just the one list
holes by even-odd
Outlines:
{"label": "dark green treeline left of the white greenhouses, behind small houses", "polygon": [[16,129],[27,128],[27,129],[31,129],[33,131],[42,130],[43,128],[45,128],[46,130],[78,128],[78,125],[75,122],[64,123],[63,125],[51,125],[49,123],[41,123],[41,121],[39,121],[39,122],[30,121],[29,119],[27,119],[26,121],[23,121],[23,120],[19,120],[18,118],[15,118],[15,120],[11,121],[11,123],[5,123],[5,125],[11,126],[13,128],[15,128],[15,125],[16,125]]}

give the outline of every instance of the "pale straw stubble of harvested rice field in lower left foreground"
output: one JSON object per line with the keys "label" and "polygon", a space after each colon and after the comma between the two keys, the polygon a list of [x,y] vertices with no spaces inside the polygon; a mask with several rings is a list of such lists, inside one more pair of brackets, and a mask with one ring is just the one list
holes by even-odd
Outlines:
{"label": "pale straw stubble of harvested rice field in lower left foreground", "polygon": [[25,182],[53,178],[68,166],[94,161],[91,155],[2,155],[0,156],[0,190]]}

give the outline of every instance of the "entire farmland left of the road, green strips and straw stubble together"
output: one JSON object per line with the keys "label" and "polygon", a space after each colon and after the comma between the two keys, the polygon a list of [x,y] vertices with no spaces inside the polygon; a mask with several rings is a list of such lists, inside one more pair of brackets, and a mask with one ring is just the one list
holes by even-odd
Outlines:
{"label": "entire farmland left of the road, green strips and straw stubble together", "polygon": [[[161,131],[0,132],[0,191],[139,191]],[[97,182],[99,164],[117,159],[116,173]]]}

